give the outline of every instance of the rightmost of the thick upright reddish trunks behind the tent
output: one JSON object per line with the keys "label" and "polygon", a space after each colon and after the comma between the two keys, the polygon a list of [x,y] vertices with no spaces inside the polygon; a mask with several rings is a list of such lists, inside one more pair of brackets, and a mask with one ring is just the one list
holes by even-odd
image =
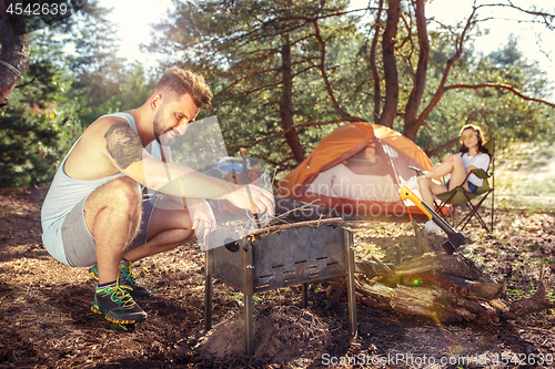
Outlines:
{"label": "rightmost of the thick upright reddish trunks behind the tent", "polygon": [[418,121],[418,109],[422,103],[422,95],[426,88],[427,62],[430,60],[430,41],[427,39],[426,16],[424,0],[416,0],[416,28],[418,30],[418,66],[414,76],[413,90],[408,96],[408,102],[405,107],[404,135],[412,140],[416,140],[418,129],[424,121]]}

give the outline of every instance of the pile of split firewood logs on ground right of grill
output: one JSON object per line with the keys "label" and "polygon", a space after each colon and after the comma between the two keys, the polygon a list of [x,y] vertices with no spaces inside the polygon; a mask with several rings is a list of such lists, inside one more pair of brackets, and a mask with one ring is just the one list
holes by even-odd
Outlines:
{"label": "pile of split firewood logs on ground right of grill", "polygon": [[357,290],[394,311],[426,317],[437,322],[498,321],[495,309],[503,285],[487,280],[461,255],[424,254],[398,264],[371,281],[357,279]]}

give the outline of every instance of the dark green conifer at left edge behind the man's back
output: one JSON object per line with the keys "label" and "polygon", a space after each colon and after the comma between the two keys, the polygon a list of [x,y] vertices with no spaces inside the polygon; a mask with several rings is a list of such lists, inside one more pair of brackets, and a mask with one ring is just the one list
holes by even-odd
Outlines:
{"label": "dark green conifer at left edge behind the man's back", "polygon": [[33,47],[29,70],[0,111],[1,187],[49,181],[81,132],[78,105],[64,95],[71,80],[56,64],[58,50],[51,47],[50,55]]}

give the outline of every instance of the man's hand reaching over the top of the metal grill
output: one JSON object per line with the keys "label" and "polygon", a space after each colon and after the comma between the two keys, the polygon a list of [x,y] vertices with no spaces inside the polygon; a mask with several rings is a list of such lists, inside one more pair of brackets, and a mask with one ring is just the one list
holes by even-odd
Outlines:
{"label": "man's hand reaching over the top of the metal grill", "polygon": [[244,214],[244,211],[248,211],[254,214],[265,213],[270,216],[274,214],[274,196],[270,192],[259,186],[243,186],[238,191],[222,196],[222,199],[226,201],[225,206],[232,213]]}

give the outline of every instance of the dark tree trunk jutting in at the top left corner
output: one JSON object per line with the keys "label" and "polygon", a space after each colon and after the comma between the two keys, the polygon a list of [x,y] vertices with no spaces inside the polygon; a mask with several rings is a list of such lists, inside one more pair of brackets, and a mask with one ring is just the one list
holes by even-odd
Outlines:
{"label": "dark tree trunk jutting in at the top left corner", "polygon": [[6,100],[29,68],[31,47],[23,16],[8,14],[0,1],[0,102]]}

